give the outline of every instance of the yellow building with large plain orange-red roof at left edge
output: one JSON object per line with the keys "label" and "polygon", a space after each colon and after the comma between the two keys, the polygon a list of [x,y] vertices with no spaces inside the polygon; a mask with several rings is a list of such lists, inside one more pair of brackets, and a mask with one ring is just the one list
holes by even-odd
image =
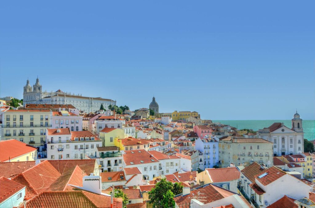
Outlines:
{"label": "yellow building with large plain orange-red roof at left edge", "polygon": [[0,162],[22,162],[37,159],[37,148],[16,139],[0,141]]}

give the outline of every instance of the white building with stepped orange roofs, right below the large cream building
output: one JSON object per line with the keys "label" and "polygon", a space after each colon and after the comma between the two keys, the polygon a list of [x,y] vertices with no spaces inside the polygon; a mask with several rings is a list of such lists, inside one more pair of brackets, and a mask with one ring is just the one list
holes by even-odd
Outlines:
{"label": "white building with stepped orange roofs, right below the large cream building", "polygon": [[46,129],[46,143],[49,160],[85,159],[102,146],[102,140],[91,132],[70,132],[69,128]]}

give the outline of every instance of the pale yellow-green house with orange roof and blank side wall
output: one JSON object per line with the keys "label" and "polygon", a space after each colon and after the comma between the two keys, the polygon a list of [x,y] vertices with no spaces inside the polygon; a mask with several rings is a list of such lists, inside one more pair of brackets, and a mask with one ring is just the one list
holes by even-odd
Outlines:
{"label": "pale yellow-green house with orange roof and blank side wall", "polygon": [[[103,147],[117,146],[115,140],[125,138],[125,132],[123,129],[118,128],[103,128],[100,131],[100,139],[103,141]],[[117,146],[119,147],[119,146]]]}

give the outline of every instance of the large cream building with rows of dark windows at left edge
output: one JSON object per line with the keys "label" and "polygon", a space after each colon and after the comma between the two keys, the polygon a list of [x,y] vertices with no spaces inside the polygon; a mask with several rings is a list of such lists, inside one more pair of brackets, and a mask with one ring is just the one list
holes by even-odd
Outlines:
{"label": "large cream building with rows of dark windows at left edge", "polygon": [[43,151],[46,128],[51,128],[50,110],[7,110],[3,112],[3,138],[5,140],[17,139],[39,147],[39,155]]}

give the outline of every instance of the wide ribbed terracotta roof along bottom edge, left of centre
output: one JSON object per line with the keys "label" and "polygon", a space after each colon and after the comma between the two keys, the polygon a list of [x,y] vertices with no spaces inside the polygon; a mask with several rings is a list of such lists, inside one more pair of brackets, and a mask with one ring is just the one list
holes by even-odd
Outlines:
{"label": "wide ribbed terracotta roof along bottom edge, left of centre", "polygon": [[[26,208],[109,208],[111,197],[87,191],[45,191],[26,203]],[[113,207],[122,207],[122,199],[114,198]]]}

